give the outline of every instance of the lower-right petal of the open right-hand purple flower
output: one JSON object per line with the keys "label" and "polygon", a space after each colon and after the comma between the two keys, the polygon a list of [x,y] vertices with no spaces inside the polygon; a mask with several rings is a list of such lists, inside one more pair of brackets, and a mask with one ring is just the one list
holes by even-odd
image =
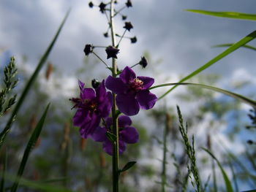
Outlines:
{"label": "lower-right petal of the open right-hand purple flower", "polygon": [[154,107],[154,104],[157,101],[157,96],[150,93],[148,90],[143,90],[137,93],[137,101],[140,104],[140,108],[148,110]]}

